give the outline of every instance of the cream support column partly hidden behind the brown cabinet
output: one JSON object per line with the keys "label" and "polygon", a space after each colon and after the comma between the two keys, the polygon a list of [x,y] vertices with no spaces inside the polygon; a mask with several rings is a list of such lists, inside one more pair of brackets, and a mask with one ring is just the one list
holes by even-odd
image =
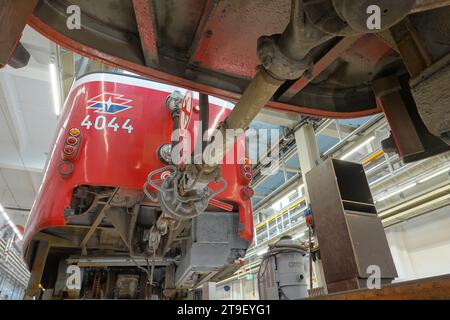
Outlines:
{"label": "cream support column partly hidden behind the brown cabinet", "polygon": [[[302,182],[305,184],[304,196],[306,204],[309,205],[310,201],[308,194],[308,186],[303,177],[312,168],[318,166],[321,163],[322,159],[320,158],[319,149],[317,147],[316,134],[312,124],[307,123],[301,126],[297,131],[295,131],[294,135],[295,135],[295,142],[297,145],[297,153],[300,162],[300,169],[302,172]],[[316,243],[316,245],[319,243],[316,235],[314,235],[314,242]],[[327,292],[322,262],[319,259],[317,259],[316,262],[313,263],[313,270],[317,279],[317,285],[319,287],[323,287],[324,291]]]}

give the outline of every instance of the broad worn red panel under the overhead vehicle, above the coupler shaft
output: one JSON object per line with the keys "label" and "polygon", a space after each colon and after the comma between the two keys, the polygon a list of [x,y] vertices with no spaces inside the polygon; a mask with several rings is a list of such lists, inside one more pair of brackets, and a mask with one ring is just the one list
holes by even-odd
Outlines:
{"label": "broad worn red panel under the overhead vehicle, above the coupler shaft", "polygon": [[256,40],[283,32],[289,15],[289,0],[218,1],[192,60],[206,69],[253,78],[261,64]]}

